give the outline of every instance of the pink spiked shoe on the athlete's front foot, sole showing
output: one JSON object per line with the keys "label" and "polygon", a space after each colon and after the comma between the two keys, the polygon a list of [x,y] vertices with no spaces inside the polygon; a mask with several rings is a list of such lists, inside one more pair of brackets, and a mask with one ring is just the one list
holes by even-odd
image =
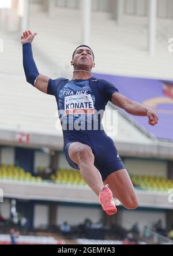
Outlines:
{"label": "pink spiked shoe on the athlete's front foot, sole showing", "polygon": [[99,202],[101,203],[103,210],[108,215],[113,215],[117,212],[114,199],[112,196],[112,192],[110,188],[108,188],[108,185],[104,185],[104,187],[101,188],[101,191],[99,194]]}

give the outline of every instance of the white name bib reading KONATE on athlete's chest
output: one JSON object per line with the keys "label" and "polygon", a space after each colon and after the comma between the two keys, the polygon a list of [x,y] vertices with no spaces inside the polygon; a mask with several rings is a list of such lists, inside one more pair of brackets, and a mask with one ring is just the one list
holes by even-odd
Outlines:
{"label": "white name bib reading KONATE on athlete's chest", "polygon": [[94,114],[91,94],[80,94],[65,97],[65,116],[68,114]]}

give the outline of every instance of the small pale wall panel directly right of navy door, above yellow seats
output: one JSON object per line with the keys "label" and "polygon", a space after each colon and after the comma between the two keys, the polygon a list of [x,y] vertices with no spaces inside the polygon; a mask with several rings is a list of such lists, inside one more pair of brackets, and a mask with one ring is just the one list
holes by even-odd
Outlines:
{"label": "small pale wall panel directly right of navy door, above yellow seats", "polygon": [[50,155],[44,152],[35,151],[34,171],[37,172],[38,167],[47,168],[50,165]]}

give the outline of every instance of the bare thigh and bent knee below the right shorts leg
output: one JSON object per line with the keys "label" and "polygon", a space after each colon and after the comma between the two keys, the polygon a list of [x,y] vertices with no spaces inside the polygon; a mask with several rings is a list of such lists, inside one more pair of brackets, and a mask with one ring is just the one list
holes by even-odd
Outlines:
{"label": "bare thigh and bent knee below the right shorts leg", "polygon": [[136,209],[138,198],[126,169],[111,173],[104,184],[108,184],[115,198],[127,209]]}

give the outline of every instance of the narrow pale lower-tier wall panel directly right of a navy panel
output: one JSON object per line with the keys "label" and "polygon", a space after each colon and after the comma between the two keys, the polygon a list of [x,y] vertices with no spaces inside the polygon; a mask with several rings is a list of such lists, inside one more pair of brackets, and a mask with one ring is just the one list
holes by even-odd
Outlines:
{"label": "narrow pale lower-tier wall panel directly right of a navy panel", "polygon": [[48,224],[48,205],[35,205],[33,214],[33,227]]}

